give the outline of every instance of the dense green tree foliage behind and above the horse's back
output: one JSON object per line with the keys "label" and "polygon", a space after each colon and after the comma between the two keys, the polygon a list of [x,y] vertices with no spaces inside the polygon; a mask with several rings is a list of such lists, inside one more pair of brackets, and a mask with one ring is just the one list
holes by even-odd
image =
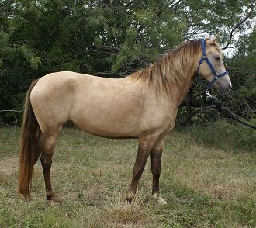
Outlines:
{"label": "dense green tree foliage behind and above the horse's back", "polygon": [[[53,71],[124,76],[190,38],[214,32],[227,43],[230,29],[250,8],[250,0],[2,1],[0,109],[16,109],[30,82]],[[250,25],[239,27],[245,28]],[[230,71],[251,78],[255,42],[255,31],[240,37],[237,54],[227,60]],[[240,81],[234,88],[254,96],[255,89]],[[11,122],[7,116],[1,112],[0,121]]]}

